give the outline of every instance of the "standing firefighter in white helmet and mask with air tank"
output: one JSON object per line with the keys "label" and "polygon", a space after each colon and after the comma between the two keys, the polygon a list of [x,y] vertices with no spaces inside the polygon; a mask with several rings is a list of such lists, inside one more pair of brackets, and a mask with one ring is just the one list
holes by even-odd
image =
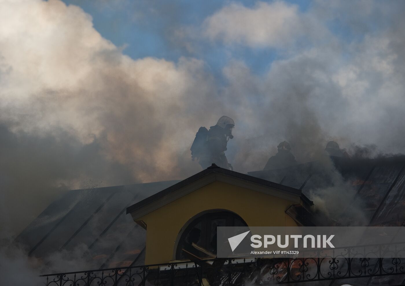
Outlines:
{"label": "standing firefighter in white helmet and mask with air tank", "polygon": [[218,167],[232,169],[225,156],[226,145],[229,139],[232,139],[232,129],[235,123],[232,118],[222,116],[216,125],[209,127],[200,127],[196,138],[190,148],[191,157],[198,159],[198,163],[203,169],[215,163]]}

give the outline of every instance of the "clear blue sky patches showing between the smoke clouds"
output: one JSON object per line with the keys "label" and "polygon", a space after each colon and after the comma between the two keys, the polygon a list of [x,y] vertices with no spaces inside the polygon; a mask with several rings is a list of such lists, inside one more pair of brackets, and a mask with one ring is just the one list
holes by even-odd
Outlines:
{"label": "clear blue sky patches showing between the smoke clouds", "polygon": [[[66,4],[80,6],[93,17],[94,28],[100,34],[119,47],[125,47],[123,53],[139,59],[143,57],[164,58],[175,61],[179,57],[203,59],[215,76],[221,76],[221,69],[228,59],[243,60],[253,73],[262,74],[269,69],[277,58],[277,50],[268,47],[245,47],[221,45],[194,39],[198,53],[190,53],[184,47],[170,40],[171,33],[182,27],[198,27],[204,19],[228,5],[229,1],[107,1],[100,4],[92,0],[64,0]],[[272,2],[272,1],[270,1]],[[285,1],[297,5],[305,13],[311,1]],[[111,4],[112,3],[112,4]],[[246,7],[255,5],[255,1],[238,1]]]}

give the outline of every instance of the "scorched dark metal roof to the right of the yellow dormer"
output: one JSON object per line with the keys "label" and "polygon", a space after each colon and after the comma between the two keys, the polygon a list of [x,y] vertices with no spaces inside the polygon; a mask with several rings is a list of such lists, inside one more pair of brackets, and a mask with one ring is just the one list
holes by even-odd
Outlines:
{"label": "scorched dark metal roof to the right of the yellow dormer", "polygon": [[[341,157],[331,159],[343,180],[355,189],[348,203],[362,208],[368,225],[404,225],[405,156],[358,160]],[[300,189],[308,197],[314,189],[333,186],[334,180],[319,161],[248,174]]]}

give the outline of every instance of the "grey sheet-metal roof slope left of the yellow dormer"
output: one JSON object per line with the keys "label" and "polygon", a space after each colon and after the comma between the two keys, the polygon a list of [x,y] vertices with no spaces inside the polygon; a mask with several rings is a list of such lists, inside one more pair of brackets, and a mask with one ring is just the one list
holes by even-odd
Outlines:
{"label": "grey sheet-metal roof slope left of the yellow dormer", "polygon": [[16,241],[37,258],[65,250],[83,250],[81,257],[95,269],[143,264],[145,230],[125,210],[177,182],[68,191],[51,203]]}

